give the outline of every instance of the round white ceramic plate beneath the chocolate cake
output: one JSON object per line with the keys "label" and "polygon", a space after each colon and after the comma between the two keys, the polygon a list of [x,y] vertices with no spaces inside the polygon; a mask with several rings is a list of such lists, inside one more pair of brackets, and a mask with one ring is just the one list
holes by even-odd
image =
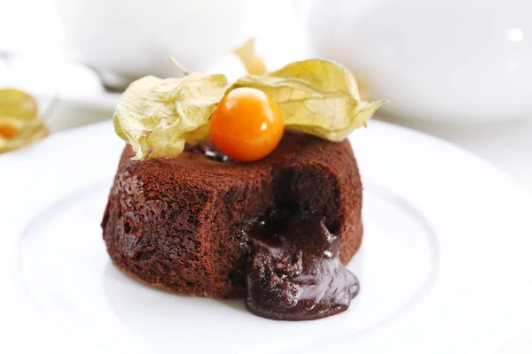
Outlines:
{"label": "round white ceramic plate beneath the chocolate cake", "polygon": [[363,175],[362,288],[348,312],[279,322],[242,301],[129,279],[99,227],[123,143],[110,122],[0,158],[0,351],[495,350],[529,319],[532,204],[503,173],[426,135],[372,122]]}

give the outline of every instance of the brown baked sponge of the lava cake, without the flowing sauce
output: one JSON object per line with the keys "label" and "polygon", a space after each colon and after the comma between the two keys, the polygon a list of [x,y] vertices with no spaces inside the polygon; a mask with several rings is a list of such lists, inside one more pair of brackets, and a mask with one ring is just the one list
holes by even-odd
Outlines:
{"label": "brown baked sponge of the lava cake, without the flowing sauce", "polygon": [[243,230],[275,209],[322,217],[340,238],[344,265],[359,249],[362,184],[347,140],[286,133],[254,163],[208,155],[196,147],[133,161],[125,148],[102,221],[115,266],[184,295],[245,296],[250,244]]}

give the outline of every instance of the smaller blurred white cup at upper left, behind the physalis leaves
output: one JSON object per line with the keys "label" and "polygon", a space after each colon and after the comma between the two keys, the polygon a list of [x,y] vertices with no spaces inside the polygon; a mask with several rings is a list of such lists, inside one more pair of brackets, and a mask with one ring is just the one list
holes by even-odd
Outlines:
{"label": "smaller blurred white cup at upper left, behind the physalis leaves", "polygon": [[104,83],[206,71],[239,39],[246,0],[59,0],[67,38]]}

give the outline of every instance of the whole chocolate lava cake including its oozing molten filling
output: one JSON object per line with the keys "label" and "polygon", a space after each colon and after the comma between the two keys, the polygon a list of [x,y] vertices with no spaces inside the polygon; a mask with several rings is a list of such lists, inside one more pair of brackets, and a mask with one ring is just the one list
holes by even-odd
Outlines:
{"label": "whole chocolate lava cake including its oozing molten filling", "polygon": [[[347,309],[358,282],[341,264],[363,235],[362,184],[347,140],[286,132],[254,163],[233,162],[208,143],[175,158],[133,156],[126,146],[102,221],[115,266],[188,296],[246,297],[251,312],[271,319]],[[285,307],[269,311],[272,298]]]}

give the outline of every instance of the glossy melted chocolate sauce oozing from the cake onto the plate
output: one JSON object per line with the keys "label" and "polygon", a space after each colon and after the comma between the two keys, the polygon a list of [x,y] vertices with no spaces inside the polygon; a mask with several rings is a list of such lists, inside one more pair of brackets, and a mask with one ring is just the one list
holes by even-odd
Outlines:
{"label": "glossy melted chocolate sauce oozing from the cake onto the plate", "polygon": [[321,319],[346,311],[356,276],[341,266],[340,239],[324,219],[304,212],[275,212],[247,231],[246,307],[267,318]]}

